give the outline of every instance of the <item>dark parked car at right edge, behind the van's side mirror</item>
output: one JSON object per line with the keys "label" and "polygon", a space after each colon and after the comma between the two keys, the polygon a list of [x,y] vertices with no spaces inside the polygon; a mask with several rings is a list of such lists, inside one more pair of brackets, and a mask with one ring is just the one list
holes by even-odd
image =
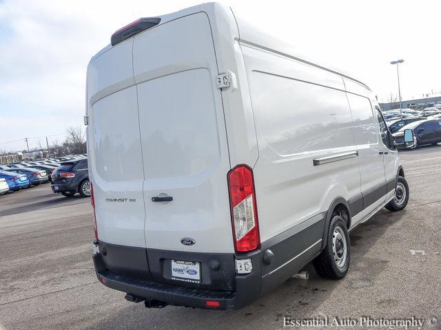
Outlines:
{"label": "dark parked car at right edge, behind the van's side mirror", "polygon": [[418,122],[411,122],[403,126],[400,131],[394,134],[398,148],[407,148],[404,145],[404,130],[411,129],[415,136],[415,143],[411,148],[422,146],[424,144],[436,145],[441,142],[441,119],[428,119]]}

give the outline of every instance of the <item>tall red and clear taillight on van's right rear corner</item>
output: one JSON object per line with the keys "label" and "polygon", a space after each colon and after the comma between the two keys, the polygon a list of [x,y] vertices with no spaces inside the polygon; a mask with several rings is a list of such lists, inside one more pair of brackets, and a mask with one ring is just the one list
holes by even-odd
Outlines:
{"label": "tall red and clear taillight on van's right rear corner", "polygon": [[236,166],[228,173],[228,186],[236,251],[256,250],[260,236],[253,170],[246,165]]}

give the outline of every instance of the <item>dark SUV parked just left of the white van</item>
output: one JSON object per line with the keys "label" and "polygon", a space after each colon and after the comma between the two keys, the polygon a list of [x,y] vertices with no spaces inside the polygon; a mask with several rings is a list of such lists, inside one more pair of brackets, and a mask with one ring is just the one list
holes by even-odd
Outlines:
{"label": "dark SUV parked just left of the white van", "polygon": [[81,197],[90,197],[88,159],[62,162],[51,176],[53,192],[61,192],[66,197],[79,192]]}

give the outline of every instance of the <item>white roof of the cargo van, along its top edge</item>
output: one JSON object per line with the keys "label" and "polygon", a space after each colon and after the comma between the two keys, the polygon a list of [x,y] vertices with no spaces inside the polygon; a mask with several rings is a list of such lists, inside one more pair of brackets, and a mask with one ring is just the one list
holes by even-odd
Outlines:
{"label": "white roof of the cargo van, along its top edge", "polygon": [[[233,12],[234,18],[236,19],[236,23],[238,25],[239,31],[239,39],[243,43],[247,43],[254,47],[259,47],[263,50],[267,50],[270,52],[274,52],[281,56],[286,56],[288,58],[293,58],[296,61],[300,61],[302,63],[306,63],[308,65],[312,65],[314,67],[318,67],[320,69],[325,69],[328,72],[338,74],[339,76],[345,77],[347,79],[353,80],[353,82],[362,85],[369,91],[369,87],[362,83],[360,80],[349,76],[343,70],[334,67],[333,65],[323,63],[322,59],[316,59],[315,56],[311,54],[303,54],[300,52],[294,45],[287,43],[286,41],[278,39],[277,36],[269,34],[256,27],[256,25],[252,25],[252,23],[247,22],[245,19],[238,17],[232,8],[229,8],[227,5],[223,5],[222,3],[209,2],[209,3],[201,3],[200,5],[194,5],[189,8],[185,8],[183,10],[179,10],[178,12],[173,12],[171,14],[158,15],[156,18],[160,18],[161,21],[156,26],[160,26],[169,21],[173,21],[174,19],[178,19],[180,17],[187,16],[189,14],[195,14],[196,12],[205,12],[210,16],[211,14],[215,14],[216,17],[222,17],[222,14],[225,12]],[[218,15],[219,14],[219,15]],[[233,43],[233,40],[232,40]],[[115,47],[115,46],[114,46]],[[102,50],[100,50],[96,55],[92,56],[91,61],[100,56],[101,54],[110,50],[112,45],[107,45]]]}

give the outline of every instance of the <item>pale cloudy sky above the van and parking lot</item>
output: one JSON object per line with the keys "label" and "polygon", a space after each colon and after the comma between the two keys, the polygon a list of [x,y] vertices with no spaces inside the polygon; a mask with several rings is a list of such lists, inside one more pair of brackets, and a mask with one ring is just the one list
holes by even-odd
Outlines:
{"label": "pale cloudy sky above the van and parking lot", "polygon": [[[441,92],[441,1],[222,1],[243,19],[367,83],[387,102]],[[201,1],[0,0],[0,150],[62,142],[83,124],[90,58],[140,17]]]}

